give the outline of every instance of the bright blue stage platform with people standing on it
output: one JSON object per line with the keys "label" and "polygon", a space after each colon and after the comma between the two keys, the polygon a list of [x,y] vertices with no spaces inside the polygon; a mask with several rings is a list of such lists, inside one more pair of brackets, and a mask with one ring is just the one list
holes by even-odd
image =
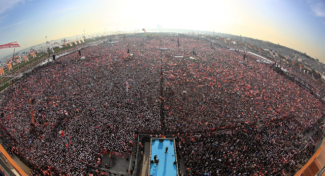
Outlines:
{"label": "bright blue stage platform with people standing on it", "polygon": [[[160,139],[161,140],[161,139]],[[174,139],[163,139],[164,142],[159,142],[158,138],[151,138],[150,146],[150,161],[154,161],[154,156],[157,155],[157,160],[159,160],[158,165],[155,163],[150,163],[150,175],[152,176],[176,176],[177,174],[177,163],[174,148]],[[165,153],[166,147],[168,147],[168,152]]]}

